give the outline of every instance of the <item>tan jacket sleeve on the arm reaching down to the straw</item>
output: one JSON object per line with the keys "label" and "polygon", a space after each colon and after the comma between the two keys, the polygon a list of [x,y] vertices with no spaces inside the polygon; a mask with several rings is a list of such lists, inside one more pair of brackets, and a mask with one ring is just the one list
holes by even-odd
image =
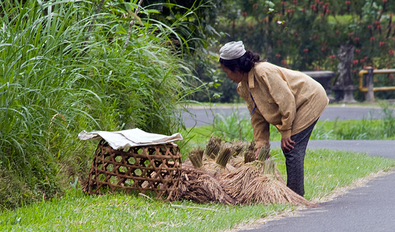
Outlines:
{"label": "tan jacket sleeve on the arm reaching down to the straw", "polygon": [[[237,86],[237,93],[244,99],[248,111],[251,113],[255,108],[255,104],[249,95],[248,88],[239,84]],[[251,125],[254,132],[255,148],[261,148],[263,146],[270,147],[270,124],[262,116],[258,108],[255,108],[251,114]]]}

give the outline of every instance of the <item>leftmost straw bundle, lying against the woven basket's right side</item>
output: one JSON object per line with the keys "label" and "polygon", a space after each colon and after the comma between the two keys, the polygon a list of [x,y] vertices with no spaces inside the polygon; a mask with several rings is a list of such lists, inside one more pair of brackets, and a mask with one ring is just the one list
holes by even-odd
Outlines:
{"label": "leftmost straw bundle, lying against the woven basket's right side", "polygon": [[236,200],[222,189],[218,180],[207,172],[194,168],[183,168],[181,170],[179,196],[201,203],[236,203]]}

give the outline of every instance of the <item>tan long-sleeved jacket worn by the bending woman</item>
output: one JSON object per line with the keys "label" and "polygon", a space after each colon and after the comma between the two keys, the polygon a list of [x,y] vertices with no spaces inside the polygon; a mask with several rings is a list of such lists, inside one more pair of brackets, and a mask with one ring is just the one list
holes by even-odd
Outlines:
{"label": "tan long-sleeved jacket worn by the bending woman", "polygon": [[[237,93],[245,100],[251,114],[256,147],[269,145],[269,124],[276,126],[281,138],[288,138],[308,128],[328,105],[324,88],[303,72],[256,63],[241,81]],[[251,99],[251,96],[252,98]]]}

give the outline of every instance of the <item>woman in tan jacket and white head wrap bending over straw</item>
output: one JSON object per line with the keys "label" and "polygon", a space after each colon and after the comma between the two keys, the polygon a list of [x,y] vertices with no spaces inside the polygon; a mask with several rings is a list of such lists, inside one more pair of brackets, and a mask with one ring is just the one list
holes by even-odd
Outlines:
{"label": "woman in tan jacket and white head wrap bending over straw", "polygon": [[275,66],[245,51],[242,41],[229,42],[220,49],[221,68],[238,83],[237,93],[245,100],[257,152],[269,147],[269,124],[281,133],[287,186],[302,197],[304,159],[307,143],[316,122],[328,105],[324,88],[310,76]]}

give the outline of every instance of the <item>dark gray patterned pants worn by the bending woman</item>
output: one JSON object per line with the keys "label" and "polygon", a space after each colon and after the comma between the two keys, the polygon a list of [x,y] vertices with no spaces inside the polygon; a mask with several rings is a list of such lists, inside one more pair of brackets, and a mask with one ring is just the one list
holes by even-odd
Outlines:
{"label": "dark gray patterned pants worn by the bending woman", "polygon": [[302,132],[291,136],[291,139],[295,142],[295,144],[292,144],[294,149],[282,151],[287,168],[287,186],[302,197],[305,195],[304,163],[306,148],[317,121],[318,119]]}

